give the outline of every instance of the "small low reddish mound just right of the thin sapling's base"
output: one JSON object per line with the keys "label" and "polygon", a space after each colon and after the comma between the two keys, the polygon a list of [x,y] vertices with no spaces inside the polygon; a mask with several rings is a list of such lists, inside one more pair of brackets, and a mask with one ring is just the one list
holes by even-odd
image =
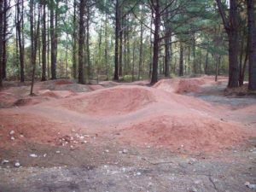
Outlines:
{"label": "small low reddish mound just right of the thin sapling's base", "polygon": [[77,96],[76,93],[73,93],[72,91],[69,91],[69,90],[39,90],[38,95],[54,97],[56,99],[67,98],[70,96]]}

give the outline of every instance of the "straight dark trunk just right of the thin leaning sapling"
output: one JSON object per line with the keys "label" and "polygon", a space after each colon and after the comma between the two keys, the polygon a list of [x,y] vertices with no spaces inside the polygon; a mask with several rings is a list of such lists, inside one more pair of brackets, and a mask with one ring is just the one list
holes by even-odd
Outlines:
{"label": "straight dark trunk just right of the thin leaning sapling", "polygon": [[42,81],[46,80],[46,3],[43,4],[43,29],[42,29]]}

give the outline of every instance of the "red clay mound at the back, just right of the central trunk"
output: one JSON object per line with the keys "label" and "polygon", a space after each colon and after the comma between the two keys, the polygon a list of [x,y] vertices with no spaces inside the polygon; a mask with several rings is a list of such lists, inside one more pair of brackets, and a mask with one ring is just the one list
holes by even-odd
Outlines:
{"label": "red clay mound at the back, just right of the central trunk", "polygon": [[183,94],[186,92],[199,91],[202,84],[206,84],[206,80],[203,78],[162,79],[157,84],[154,84],[154,88],[166,90],[168,92]]}

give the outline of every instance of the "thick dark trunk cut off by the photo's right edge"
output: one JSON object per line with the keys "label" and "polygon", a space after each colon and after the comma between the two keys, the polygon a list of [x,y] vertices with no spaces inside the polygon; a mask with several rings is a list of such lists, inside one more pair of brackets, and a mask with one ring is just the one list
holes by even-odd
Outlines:
{"label": "thick dark trunk cut off by the photo's right edge", "polygon": [[256,26],[253,9],[255,2],[247,0],[248,20],[248,57],[249,57],[249,90],[256,90]]}

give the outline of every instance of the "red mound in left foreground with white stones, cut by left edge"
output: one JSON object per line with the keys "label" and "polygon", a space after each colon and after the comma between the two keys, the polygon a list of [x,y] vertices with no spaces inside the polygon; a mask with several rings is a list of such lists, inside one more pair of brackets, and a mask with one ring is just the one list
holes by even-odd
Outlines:
{"label": "red mound in left foreground with white stones, cut by left edge", "polygon": [[22,143],[56,145],[59,143],[59,137],[75,129],[74,126],[70,127],[35,113],[0,110],[0,115],[4,116],[4,119],[1,119],[0,148],[12,148],[15,145],[21,147]]}

